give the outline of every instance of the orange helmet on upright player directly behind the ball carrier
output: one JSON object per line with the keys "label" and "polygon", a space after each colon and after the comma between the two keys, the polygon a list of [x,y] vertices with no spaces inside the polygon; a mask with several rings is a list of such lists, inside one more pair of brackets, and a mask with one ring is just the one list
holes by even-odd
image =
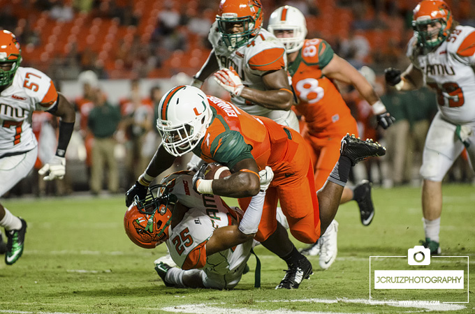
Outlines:
{"label": "orange helmet on upright player directly behind the ball carrier", "polygon": [[[262,27],[262,18],[261,0],[221,0],[216,15],[219,32],[230,49],[246,45],[256,36]],[[233,33],[235,24],[242,24],[244,30]]]}

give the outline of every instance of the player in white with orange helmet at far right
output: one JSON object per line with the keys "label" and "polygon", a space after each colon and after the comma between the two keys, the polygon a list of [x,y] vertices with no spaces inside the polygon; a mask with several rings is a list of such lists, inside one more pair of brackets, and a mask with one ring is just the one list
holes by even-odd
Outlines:
{"label": "player in white with orange helmet at far right", "polygon": [[440,0],[419,2],[412,25],[414,37],[407,49],[411,64],[402,74],[386,69],[386,82],[400,91],[427,84],[437,92],[439,111],[425,139],[421,167],[425,229],[421,242],[438,254],[441,181],[464,147],[475,165],[475,28],[455,22],[448,5]]}

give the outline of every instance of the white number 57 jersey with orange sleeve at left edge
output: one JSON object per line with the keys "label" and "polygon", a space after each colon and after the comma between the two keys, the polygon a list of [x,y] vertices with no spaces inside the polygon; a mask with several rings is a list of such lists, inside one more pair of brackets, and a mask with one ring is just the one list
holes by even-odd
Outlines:
{"label": "white number 57 jersey with orange sleeve at left edge", "polygon": [[35,68],[17,69],[10,87],[0,93],[0,158],[36,147],[31,115],[51,109],[57,98],[56,88],[45,73]]}

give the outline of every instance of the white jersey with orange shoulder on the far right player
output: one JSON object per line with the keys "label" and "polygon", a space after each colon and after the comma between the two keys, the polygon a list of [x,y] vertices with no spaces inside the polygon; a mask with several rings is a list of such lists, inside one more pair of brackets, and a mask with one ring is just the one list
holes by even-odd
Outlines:
{"label": "white jersey with orange shoulder on the far right player", "polygon": [[415,55],[416,36],[407,56],[424,75],[425,83],[437,92],[444,119],[453,124],[475,121],[475,28],[458,26],[436,50]]}

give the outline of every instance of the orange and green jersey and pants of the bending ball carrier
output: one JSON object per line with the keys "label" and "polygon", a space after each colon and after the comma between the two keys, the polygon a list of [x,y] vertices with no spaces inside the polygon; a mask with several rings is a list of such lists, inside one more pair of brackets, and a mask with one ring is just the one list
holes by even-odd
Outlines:
{"label": "orange and green jersey and pants of the bending ball carrier", "polygon": [[[274,179],[265,195],[257,241],[264,241],[277,228],[277,202],[291,233],[304,243],[320,237],[319,201],[314,186],[314,170],[302,136],[265,117],[256,117],[232,103],[207,96],[213,118],[203,140],[193,149],[207,163],[218,162],[232,169],[247,158],[256,160],[259,170],[272,167]],[[239,200],[246,209],[251,197]]]}

